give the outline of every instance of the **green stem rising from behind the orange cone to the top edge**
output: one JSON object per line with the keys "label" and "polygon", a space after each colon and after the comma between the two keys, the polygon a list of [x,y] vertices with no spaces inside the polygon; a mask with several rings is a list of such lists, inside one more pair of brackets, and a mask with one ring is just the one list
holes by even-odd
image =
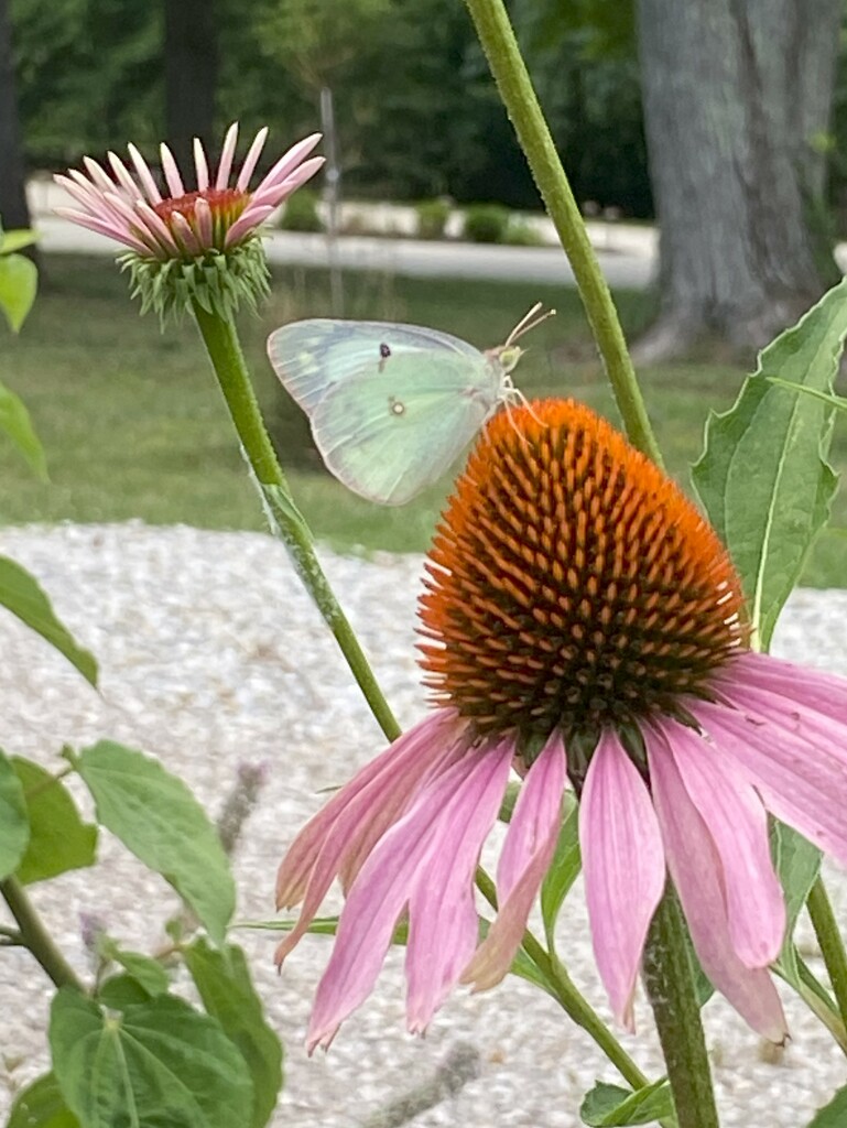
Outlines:
{"label": "green stem rising from behind the orange cone to the top edge", "polygon": [[626,432],[635,447],[661,466],[662,456],[615,303],[558,159],[503,0],[466,0],[466,3],[518,141],[573,268]]}

